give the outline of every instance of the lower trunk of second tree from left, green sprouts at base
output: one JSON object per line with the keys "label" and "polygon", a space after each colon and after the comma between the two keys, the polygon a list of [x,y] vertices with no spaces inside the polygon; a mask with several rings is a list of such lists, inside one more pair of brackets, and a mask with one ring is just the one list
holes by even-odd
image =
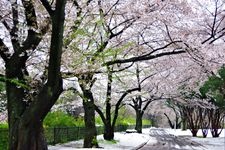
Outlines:
{"label": "lower trunk of second tree from left, green sprouts at base", "polygon": [[84,148],[98,147],[97,129],[95,126],[95,107],[93,101],[83,100],[85,135]]}

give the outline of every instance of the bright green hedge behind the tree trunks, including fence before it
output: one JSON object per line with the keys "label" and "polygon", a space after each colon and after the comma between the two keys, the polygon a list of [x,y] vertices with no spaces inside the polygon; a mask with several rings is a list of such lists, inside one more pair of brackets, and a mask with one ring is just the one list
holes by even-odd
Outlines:
{"label": "bright green hedge behind the tree trunks, including fence before it", "polygon": [[[44,120],[45,137],[48,144],[64,143],[79,140],[84,137],[84,119],[74,118],[62,111],[50,112]],[[100,117],[96,117],[98,134],[103,134],[104,128]],[[118,117],[115,132],[134,128],[135,118]],[[146,126],[148,125],[148,126]],[[151,121],[143,120],[143,127],[151,126]],[[0,150],[8,149],[8,124],[0,123]]]}

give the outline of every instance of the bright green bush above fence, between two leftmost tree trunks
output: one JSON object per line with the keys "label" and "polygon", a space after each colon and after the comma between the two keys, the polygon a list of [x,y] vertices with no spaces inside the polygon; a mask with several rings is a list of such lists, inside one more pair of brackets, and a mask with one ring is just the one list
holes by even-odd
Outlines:
{"label": "bright green bush above fence, between two leftmost tree trunks", "polygon": [[45,117],[44,127],[84,126],[83,118],[74,118],[62,111],[50,112]]}

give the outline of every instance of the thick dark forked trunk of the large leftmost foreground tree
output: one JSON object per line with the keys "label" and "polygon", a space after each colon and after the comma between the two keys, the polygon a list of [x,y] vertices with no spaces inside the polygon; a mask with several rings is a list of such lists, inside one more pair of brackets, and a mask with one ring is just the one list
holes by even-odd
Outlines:
{"label": "thick dark forked trunk of the large leftmost foreground tree", "polygon": [[[27,39],[19,42],[19,12],[17,1],[11,2],[13,27],[9,33],[14,52],[10,52],[3,40],[0,39],[0,55],[5,61],[5,82],[7,93],[8,123],[9,123],[9,149],[10,150],[45,150],[47,143],[43,134],[43,119],[54,105],[62,92],[62,79],[60,75],[62,39],[64,27],[64,9],[66,0],[57,0],[53,10],[48,1],[42,1],[49,12],[52,21],[52,37],[49,54],[48,80],[37,91],[38,95],[28,102],[29,76],[26,62],[28,51],[35,51],[47,26],[39,29],[35,9],[32,1],[22,0],[26,25],[28,27]],[[6,23],[5,23],[5,26]],[[7,28],[8,29],[8,28]],[[36,30],[34,30],[36,29]],[[38,32],[39,31],[39,32]],[[23,36],[23,35],[22,35]]]}

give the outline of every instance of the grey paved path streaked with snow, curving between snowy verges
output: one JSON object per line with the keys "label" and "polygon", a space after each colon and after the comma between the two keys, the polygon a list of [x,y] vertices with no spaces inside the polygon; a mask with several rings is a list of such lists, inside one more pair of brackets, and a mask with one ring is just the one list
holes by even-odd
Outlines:
{"label": "grey paved path streaked with snow, curving between snowy verges", "polygon": [[167,133],[164,129],[151,129],[150,136],[157,139],[157,143],[147,142],[138,150],[190,150],[195,148],[204,149],[204,147],[192,141],[188,137],[177,137]]}

